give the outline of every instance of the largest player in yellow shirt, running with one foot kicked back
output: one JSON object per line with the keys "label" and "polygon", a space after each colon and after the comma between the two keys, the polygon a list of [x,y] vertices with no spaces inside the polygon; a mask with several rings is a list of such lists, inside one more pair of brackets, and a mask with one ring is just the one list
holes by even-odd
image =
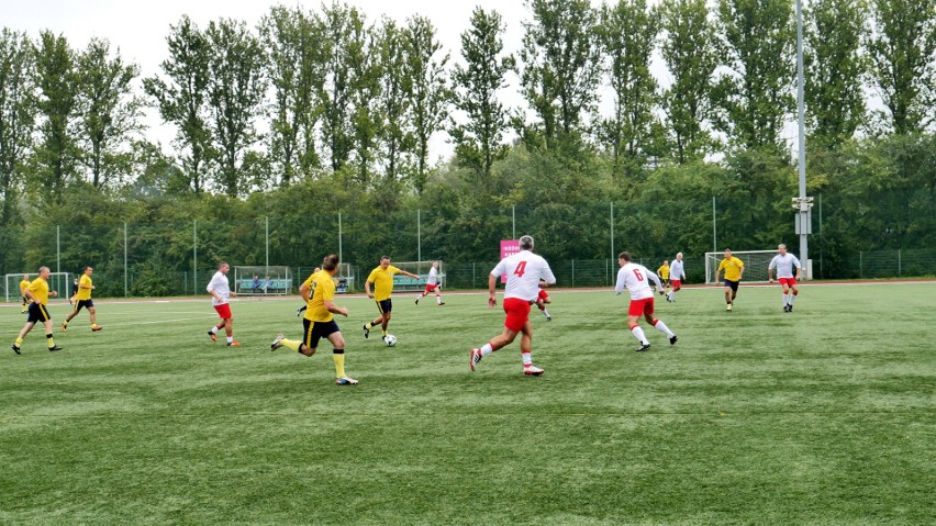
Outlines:
{"label": "largest player in yellow shirt, running with one foot kicked back", "polygon": [[299,288],[299,293],[308,306],[305,316],[302,318],[304,328],[302,342],[286,339],[282,334],[278,334],[270,344],[270,350],[286,347],[304,356],[312,356],[315,354],[319,340],[327,338],[334,348],[332,358],[335,361],[335,384],[356,385],[357,380],[345,374],[345,338],[333,316],[333,314],[348,316],[348,310],[335,305],[334,302],[335,281],[332,278],[338,269],[338,257],[334,254],[325,256],[322,268],[323,270],[309,276],[309,279]]}

